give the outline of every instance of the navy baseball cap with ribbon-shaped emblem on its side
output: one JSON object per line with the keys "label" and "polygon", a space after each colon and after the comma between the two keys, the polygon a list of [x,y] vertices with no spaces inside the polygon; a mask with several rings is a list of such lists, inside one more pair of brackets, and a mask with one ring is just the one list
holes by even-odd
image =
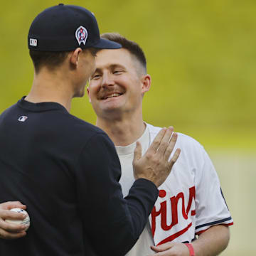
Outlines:
{"label": "navy baseball cap with ribbon-shaped emblem on its side", "polygon": [[69,51],[76,48],[118,49],[122,46],[100,38],[91,11],[59,4],[38,14],[28,31],[28,48],[41,51]]}

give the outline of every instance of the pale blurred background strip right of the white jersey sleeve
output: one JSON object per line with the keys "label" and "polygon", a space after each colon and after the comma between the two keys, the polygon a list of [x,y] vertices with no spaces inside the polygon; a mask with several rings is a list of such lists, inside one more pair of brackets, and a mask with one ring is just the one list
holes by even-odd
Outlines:
{"label": "pale blurred background strip right of the white jersey sleeve", "polygon": [[256,154],[240,150],[210,151],[210,157],[220,177],[225,199],[234,225],[230,226],[230,244],[223,256],[254,256],[255,245],[255,181]]}

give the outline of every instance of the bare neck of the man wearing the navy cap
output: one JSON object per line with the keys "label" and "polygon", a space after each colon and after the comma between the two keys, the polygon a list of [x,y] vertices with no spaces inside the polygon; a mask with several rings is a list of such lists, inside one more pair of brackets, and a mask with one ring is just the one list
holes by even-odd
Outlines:
{"label": "bare neck of the man wearing the navy cap", "polygon": [[33,103],[57,102],[70,112],[73,92],[68,82],[65,76],[42,70],[39,74],[35,74],[31,91],[25,100]]}

